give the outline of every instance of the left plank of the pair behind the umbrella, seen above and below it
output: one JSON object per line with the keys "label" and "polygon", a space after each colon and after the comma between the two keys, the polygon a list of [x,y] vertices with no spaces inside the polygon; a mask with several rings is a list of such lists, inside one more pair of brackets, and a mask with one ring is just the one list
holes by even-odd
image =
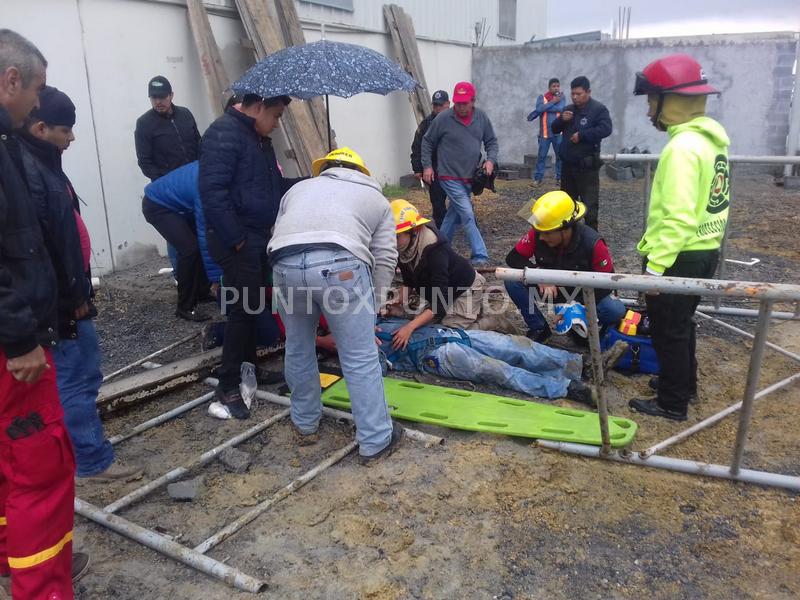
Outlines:
{"label": "left plank of the pair behind the umbrella, seen above and below it", "polygon": [[[236,0],[236,8],[247,36],[255,46],[256,60],[286,47],[283,35],[275,25],[267,0]],[[276,7],[277,8],[277,7]],[[304,102],[292,102],[281,119],[293,158],[301,175],[311,174],[314,159],[327,154],[327,142],[319,135],[317,124]]]}

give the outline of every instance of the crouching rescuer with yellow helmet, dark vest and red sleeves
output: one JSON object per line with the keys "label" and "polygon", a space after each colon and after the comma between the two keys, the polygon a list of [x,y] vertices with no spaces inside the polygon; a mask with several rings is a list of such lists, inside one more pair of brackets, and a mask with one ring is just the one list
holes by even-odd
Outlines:
{"label": "crouching rescuer with yellow helmet, dark vest and red sleeves", "polygon": [[[608,246],[600,234],[583,223],[585,214],[583,202],[573,200],[566,192],[547,192],[534,202],[527,219],[531,229],[508,253],[506,263],[515,269],[535,267],[613,273],[614,262]],[[540,343],[551,335],[550,326],[538,306],[540,302],[583,302],[580,290],[575,288],[526,286],[517,281],[507,281],[505,286],[528,326],[527,336]],[[616,325],[625,314],[622,302],[611,290],[596,290],[596,299],[600,323]]]}

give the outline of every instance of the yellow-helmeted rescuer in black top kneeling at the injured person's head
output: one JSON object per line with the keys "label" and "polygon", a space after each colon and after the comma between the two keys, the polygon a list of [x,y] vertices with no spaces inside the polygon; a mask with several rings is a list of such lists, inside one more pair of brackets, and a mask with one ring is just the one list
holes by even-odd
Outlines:
{"label": "yellow-helmeted rescuer in black top kneeling at the injured person's head", "polygon": [[420,300],[413,318],[394,332],[393,347],[404,349],[414,331],[434,322],[480,328],[486,279],[408,200],[393,200],[391,208],[403,287],[390,313],[405,316],[408,298],[417,295]]}

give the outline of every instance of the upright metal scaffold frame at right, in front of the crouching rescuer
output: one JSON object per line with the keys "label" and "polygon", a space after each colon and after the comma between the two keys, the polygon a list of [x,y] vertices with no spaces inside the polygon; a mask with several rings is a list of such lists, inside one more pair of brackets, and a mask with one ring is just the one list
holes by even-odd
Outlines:
{"label": "upright metal scaffold frame at right, in front of the crouching rescuer", "polygon": [[[499,268],[496,271],[499,279],[504,281],[521,281],[526,285],[545,284],[556,286],[581,287],[583,299],[586,304],[587,320],[589,321],[589,349],[591,352],[592,368],[597,383],[598,393],[598,418],[600,419],[600,431],[603,444],[600,448],[585,446],[582,444],[571,444],[564,442],[550,442],[537,440],[537,444],[543,448],[551,448],[579,454],[583,456],[593,456],[605,458],[618,462],[644,465],[655,468],[669,469],[683,473],[696,475],[706,475],[710,477],[721,477],[757,483],[775,487],[783,487],[791,490],[800,491],[800,477],[770,473],[765,471],[752,471],[742,469],[742,458],[747,440],[747,432],[753,415],[753,403],[759,398],[775,390],[786,387],[800,380],[800,373],[796,373],[786,379],[779,381],[760,392],[757,392],[759,377],[761,373],[761,362],[765,348],[774,349],[784,356],[800,360],[800,356],[767,342],[769,322],[771,318],[772,305],[776,301],[800,301],[800,286],[788,284],[775,284],[749,281],[724,281],[718,279],[693,279],[687,277],[652,277],[649,275],[628,275],[619,273],[596,273],[578,271],[560,271],[554,269],[506,269]],[[603,386],[603,372],[600,358],[600,331],[597,324],[597,306],[595,304],[595,288],[601,289],[623,289],[644,293],[665,293],[683,294],[697,296],[711,296],[714,298],[751,298],[758,300],[758,323],[755,335],[728,325],[718,319],[712,319],[728,329],[732,329],[747,337],[753,338],[753,348],[750,353],[750,363],[747,371],[747,383],[745,385],[744,398],[741,402],[713,415],[704,421],[693,425],[687,430],[660,442],[647,450],[639,453],[632,453],[630,450],[612,450],[611,441],[608,436],[608,401],[605,396]],[[701,317],[711,319],[705,314]],[[733,449],[733,457],[729,466],[715,465],[697,461],[687,461],[677,458],[654,456],[656,452],[682,441],[692,434],[719,422],[724,417],[736,411],[741,411],[739,415],[739,425],[736,431],[736,442]]]}

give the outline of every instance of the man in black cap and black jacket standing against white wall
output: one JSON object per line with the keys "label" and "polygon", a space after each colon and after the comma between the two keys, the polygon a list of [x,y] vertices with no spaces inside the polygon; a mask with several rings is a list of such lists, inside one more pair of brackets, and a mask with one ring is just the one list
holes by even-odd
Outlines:
{"label": "man in black cap and black jacket standing against white wall", "polygon": [[197,160],[200,133],[188,108],[172,103],[172,86],[158,75],[147,85],[153,106],[136,121],[136,158],[144,176],[155,181]]}

